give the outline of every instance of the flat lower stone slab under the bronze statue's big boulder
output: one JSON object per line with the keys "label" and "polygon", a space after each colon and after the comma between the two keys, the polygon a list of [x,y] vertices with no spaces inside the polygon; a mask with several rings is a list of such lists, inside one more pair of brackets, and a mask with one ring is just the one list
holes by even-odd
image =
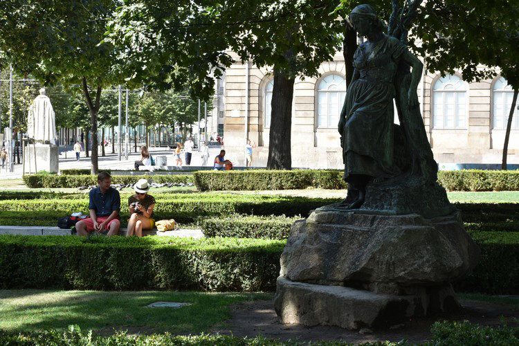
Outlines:
{"label": "flat lower stone slab under the bronze statue's big boulder", "polygon": [[[413,316],[424,316],[424,305],[441,302],[441,310],[459,308],[450,286],[417,295],[389,295],[352,289],[293,282],[277,278],[274,307],[282,322],[307,326],[334,325],[345,329],[390,327]],[[430,292],[430,291],[429,291]]]}

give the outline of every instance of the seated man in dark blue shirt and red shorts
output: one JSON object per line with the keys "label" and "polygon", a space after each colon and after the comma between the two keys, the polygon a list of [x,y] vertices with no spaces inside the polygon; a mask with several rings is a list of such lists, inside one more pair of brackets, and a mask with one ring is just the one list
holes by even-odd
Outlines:
{"label": "seated man in dark blue shirt and red shorts", "polygon": [[118,190],[111,188],[111,175],[107,172],[98,174],[98,188],[89,193],[90,217],[75,224],[78,235],[88,235],[94,230],[98,233],[107,230],[107,236],[119,232],[120,195]]}

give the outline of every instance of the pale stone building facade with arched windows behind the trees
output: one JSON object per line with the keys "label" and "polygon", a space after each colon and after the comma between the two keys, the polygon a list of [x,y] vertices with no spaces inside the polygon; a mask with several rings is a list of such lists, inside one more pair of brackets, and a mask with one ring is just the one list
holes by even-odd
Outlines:
{"label": "pale stone building facade with arched windows behind the trees", "polygon": [[[292,107],[292,166],[342,168],[338,117],[346,94],[342,53],[320,66],[318,78],[295,80]],[[233,64],[224,76],[224,147],[227,158],[244,165],[246,139],[257,144],[253,165],[268,158],[273,74],[250,62]],[[421,114],[440,164],[502,160],[502,147],[513,91],[500,75],[465,82],[462,75],[425,73],[418,86]],[[219,110],[221,111],[221,110]],[[515,111],[508,163],[519,163],[519,112]],[[398,117],[395,111],[395,122]]]}

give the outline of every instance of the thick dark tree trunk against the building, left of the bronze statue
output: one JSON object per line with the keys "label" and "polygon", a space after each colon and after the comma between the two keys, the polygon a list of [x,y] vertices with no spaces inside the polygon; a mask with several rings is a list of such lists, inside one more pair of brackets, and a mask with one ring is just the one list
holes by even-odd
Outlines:
{"label": "thick dark tree trunk against the building, left of the bronze statue", "polygon": [[271,131],[268,143],[267,170],[291,170],[291,127],[294,78],[274,70],[271,104]]}

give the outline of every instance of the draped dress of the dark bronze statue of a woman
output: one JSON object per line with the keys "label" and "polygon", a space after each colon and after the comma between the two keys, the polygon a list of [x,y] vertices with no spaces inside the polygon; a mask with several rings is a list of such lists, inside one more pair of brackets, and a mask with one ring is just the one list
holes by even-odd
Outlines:
{"label": "draped dress of the dark bronze statue of a woman", "polygon": [[354,54],[360,77],[349,85],[341,116],[345,180],[352,174],[389,178],[399,174],[393,163],[394,75],[406,51],[398,39],[384,35],[372,51],[365,44]]}

